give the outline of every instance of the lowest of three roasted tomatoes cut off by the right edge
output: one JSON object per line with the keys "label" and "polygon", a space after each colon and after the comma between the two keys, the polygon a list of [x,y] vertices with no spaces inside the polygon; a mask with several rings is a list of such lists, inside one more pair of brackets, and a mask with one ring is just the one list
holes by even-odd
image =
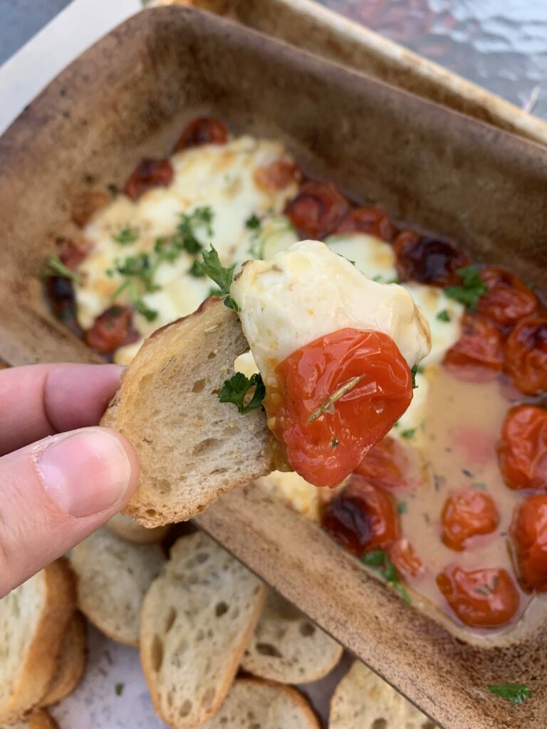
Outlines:
{"label": "lowest of three roasted tomatoes cut off by the right edge", "polygon": [[532,590],[547,590],[547,496],[529,496],[517,507],[511,538],[521,580]]}

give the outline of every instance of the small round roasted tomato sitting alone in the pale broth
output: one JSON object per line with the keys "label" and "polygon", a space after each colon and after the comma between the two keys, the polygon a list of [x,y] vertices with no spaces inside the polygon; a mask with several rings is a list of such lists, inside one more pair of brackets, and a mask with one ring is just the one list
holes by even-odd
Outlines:
{"label": "small round roasted tomato sitting alone in the pale broth", "polygon": [[491,534],[500,515],[492,496],[484,491],[466,488],[444,502],[441,513],[441,537],[447,547],[461,552],[465,542],[478,534]]}

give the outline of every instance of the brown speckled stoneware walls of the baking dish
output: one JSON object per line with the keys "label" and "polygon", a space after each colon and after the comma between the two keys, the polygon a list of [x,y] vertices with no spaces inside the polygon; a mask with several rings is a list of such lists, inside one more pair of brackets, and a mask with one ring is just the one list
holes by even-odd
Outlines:
{"label": "brown speckled stoneware walls of the baking dish", "polygon": [[[158,8],[85,52],[0,139],[0,357],[98,359],[47,311],[44,257],[74,232],[82,195],[166,154],[204,112],[282,139],[313,176],[547,284],[545,149],[227,20]],[[255,486],[198,523],[445,729],[546,726],[544,601],[505,644],[466,644]],[[532,698],[513,706],[486,690],[504,682]]]}

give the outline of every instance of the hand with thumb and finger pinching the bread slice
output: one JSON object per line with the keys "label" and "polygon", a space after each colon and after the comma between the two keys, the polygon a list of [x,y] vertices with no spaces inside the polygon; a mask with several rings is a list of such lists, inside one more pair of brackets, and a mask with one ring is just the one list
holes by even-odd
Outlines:
{"label": "hand with thumb and finger pinching the bread slice", "polygon": [[98,529],[133,494],[133,447],[97,427],[120,372],[115,364],[0,372],[0,597]]}

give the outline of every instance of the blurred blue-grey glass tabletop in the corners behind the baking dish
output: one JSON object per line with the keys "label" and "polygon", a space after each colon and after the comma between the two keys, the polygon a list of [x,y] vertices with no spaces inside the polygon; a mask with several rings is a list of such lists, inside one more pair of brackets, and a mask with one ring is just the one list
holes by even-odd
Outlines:
{"label": "blurred blue-grey glass tabletop in the corners behind the baking dish", "polygon": [[[547,0],[320,1],[547,119]],[[0,64],[66,5],[0,0]]]}

